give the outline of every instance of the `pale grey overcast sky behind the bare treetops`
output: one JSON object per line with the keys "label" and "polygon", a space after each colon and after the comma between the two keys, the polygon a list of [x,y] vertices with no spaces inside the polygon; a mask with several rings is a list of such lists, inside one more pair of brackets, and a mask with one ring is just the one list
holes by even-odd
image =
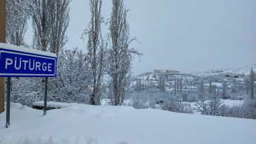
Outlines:
{"label": "pale grey overcast sky behind the bare treetops", "polygon": [[[103,1],[105,20],[110,17],[111,2]],[[130,9],[130,36],[141,42],[132,47],[143,53],[140,60],[133,61],[134,74],[256,64],[255,0],[124,0],[124,4]],[[89,20],[89,0],[72,0],[65,48],[85,50],[81,36]],[[103,25],[103,31],[107,32],[108,26]]]}

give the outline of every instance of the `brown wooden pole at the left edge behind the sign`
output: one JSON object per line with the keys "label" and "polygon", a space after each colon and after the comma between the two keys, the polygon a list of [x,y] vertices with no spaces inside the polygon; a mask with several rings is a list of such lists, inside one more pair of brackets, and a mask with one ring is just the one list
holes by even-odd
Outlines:
{"label": "brown wooden pole at the left edge behind the sign", "polygon": [[[0,0],[0,43],[6,43],[6,0]],[[4,78],[0,78],[0,113],[4,111]]]}

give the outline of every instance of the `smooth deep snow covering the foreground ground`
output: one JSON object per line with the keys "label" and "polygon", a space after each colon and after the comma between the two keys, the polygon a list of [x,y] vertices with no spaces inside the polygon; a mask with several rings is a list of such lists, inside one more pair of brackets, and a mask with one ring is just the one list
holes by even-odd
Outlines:
{"label": "smooth deep snow covering the foreground ground", "polygon": [[74,104],[47,111],[11,103],[0,115],[0,143],[255,143],[256,120],[171,113],[129,106]]}

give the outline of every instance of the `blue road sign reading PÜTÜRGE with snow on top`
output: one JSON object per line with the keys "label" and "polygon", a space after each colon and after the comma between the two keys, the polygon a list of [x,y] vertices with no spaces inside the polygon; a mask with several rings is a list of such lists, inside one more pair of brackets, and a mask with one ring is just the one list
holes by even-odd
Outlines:
{"label": "blue road sign reading P\u00dcT\u00dcRGE with snow on top", "polygon": [[55,77],[56,54],[0,43],[0,77]]}

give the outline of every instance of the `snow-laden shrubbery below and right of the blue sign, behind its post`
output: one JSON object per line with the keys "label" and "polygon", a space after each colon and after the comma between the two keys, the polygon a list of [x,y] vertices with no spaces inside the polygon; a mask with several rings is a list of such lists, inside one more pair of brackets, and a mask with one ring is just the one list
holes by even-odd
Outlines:
{"label": "snow-laden shrubbery below and right of the blue sign, behind its post", "polygon": [[[86,55],[77,49],[58,55],[57,77],[49,78],[48,100],[89,103],[91,77]],[[44,99],[44,78],[12,78],[11,101],[32,106]]]}

